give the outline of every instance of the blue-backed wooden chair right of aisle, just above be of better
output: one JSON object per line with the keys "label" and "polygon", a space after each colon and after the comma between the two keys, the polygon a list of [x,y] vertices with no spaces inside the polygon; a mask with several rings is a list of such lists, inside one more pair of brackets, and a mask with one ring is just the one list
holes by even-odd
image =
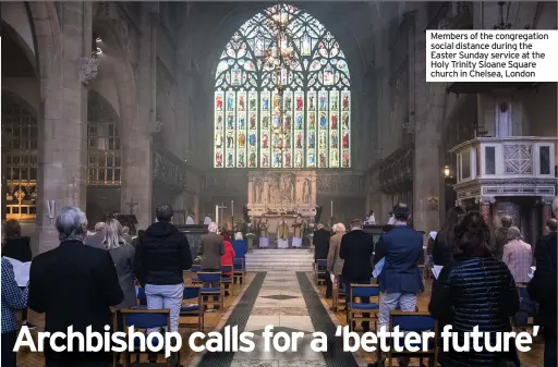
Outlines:
{"label": "blue-backed wooden chair right of aisle, just above be of better", "polygon": [[[367,297],[369,303],[356,303],[355,298]],[[345,299],[347,323],[349,330],[354,331],[353,322],[368,321],[374,330],[377,329],[377,320],[379,314],[379,289],[377,284],[351,284],[349,297]],[[368,316],[364,316],[368,314]]]}

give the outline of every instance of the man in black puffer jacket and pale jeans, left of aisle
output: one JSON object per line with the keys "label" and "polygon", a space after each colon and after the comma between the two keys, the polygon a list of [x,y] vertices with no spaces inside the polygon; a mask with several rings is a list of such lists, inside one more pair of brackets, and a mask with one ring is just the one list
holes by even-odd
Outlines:
{"label": "man in black puffer jacket and pale jeans, left of aisle", "polygon": [[183,271],[192,268],[192,255],[186,236],[172,224],[172,207],[161,205],[155,215],[157,221],[145,231],[136,248],[136,276],[145,289],[147,308],[170,309],[170,329],[178,331]]}

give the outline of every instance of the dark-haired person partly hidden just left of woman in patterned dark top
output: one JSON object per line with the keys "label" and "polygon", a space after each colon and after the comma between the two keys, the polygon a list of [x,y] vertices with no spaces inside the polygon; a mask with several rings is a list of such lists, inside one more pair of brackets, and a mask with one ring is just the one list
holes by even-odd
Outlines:
{"label": "dark-haired person partly hidden just left of woman in patterned dark top", "polygon": [[435,265],[447,266],[453,260],[456,252],[456,227],[465,212],[461,207],[450,208],[446,215],[444,225],[436,234],[432,248],[432,259]]}

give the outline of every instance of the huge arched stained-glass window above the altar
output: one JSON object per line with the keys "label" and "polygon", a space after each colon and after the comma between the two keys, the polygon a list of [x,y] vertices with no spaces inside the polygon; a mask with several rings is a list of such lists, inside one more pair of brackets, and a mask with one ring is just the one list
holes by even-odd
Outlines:
{"label": "huge arched stained-glass window above the altar", "polygon": [[[288,20],[280,48],[296,60],[280,77],[263,61],[278,49],[277,15]],[[215,168],[351,167],[349,68],[312,15],[287,4],[254,15],[227,44],[215,75]]]}

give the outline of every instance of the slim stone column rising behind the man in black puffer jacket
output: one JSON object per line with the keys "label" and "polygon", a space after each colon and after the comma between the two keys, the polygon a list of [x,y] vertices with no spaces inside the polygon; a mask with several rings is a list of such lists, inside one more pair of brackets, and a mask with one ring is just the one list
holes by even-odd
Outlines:
{"label": "slim stone column rising behind the man in black puffer jacket", "polygon": [[156,121],[157,72],[157,14],[158,4],[142,4],[138,77],[136,78],[136,121],[126,124],[122,142],[121,203],[125,208],[132,197],[138,205],[134,210],[137,228],[151,223],[153,157],[150,133]]}

